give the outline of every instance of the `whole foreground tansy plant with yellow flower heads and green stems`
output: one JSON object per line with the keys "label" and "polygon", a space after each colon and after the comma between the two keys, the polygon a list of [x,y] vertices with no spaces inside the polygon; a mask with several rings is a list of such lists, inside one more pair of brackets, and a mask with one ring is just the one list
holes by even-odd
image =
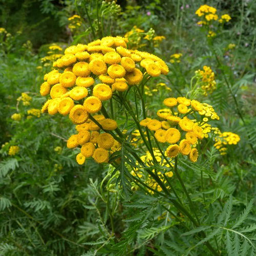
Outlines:
{"label": "whole foreground tansy plant with yellow flower heads and green stems", "polygon": [[[132,183],[165,197],[199,226],[178,162],[195,164],[204,138],[201,126],[219,116],[207,103],[170,97],[163,101],[166,109],[157,111],[157,119],[148,117],[146,83],[169,70],[158,56],[127,49],[127,42],[108,36],[68,47],[44,76],[40,94],[48,99],[41,112],[67,116],[73,122],[76,133],[67,146],[79,150],[78,164],[93,158],[113,165],[112,177],[120,174],[117,183],[126,197]],[[179,200],[173,179],[179,181],[189,208]],[[176,197],[170,196],[171,191]],[[199,236],[203,238],[204,232]],[[217,254],[208,242],[205,245]]]}

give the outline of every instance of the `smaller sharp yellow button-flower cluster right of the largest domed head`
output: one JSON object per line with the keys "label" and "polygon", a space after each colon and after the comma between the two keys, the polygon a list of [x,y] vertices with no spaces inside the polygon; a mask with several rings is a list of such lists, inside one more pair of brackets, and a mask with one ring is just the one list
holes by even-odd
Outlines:
{"label": "smaller sharp yellow button-flower cluster right of the largest domed head", "polygon": [[198,151],[197,148],[191,148],[191,145],[195,146],[198,139],[204,138],[204,134],[202,128],[187,115],[203,111],[203,104],[185,97],[167,98],[163,103],[169,109],[159,110],[157,115],[164,121],[146,118],[140,121],[140,125],[155,132],[158,142],[170,144],[165,151],[168,157],[173,158],[181,153],[196,162]]}

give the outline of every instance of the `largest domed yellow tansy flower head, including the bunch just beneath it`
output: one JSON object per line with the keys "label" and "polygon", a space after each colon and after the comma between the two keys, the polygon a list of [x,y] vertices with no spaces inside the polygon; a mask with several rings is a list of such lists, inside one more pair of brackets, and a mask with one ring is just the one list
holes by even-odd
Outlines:
{"label": "largest domed yellow tansy flower head, including the bunch just beneath it", "polygon": [[168,73],[162,59],[147,52],[128,50],[126,42],[126,38],[108,36],[88,45],[68,47],[65,55],[53,63],[58,70],[44,76],[40,94],[50,94],[50,99],[41,112],[68,115],[76,124],[78,134],[72,135],[67,145],[81,146],[79,164],[88,157],[97,163],[108,162],[109,153],[118,148],[111,134],[100,133],[101,127],[103,131],[117,129],[117,122],[102,115],[92,116],[101,110],[102,102],[111,99],[116,91],[124,92],[129,86],[139,84],[143,73],[147,77]]}

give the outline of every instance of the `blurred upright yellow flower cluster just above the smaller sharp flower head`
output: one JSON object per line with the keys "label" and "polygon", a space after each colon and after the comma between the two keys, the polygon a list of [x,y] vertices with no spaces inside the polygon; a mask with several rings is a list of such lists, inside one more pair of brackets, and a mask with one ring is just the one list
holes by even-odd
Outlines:
{"label": "blurred upright yellow flower cluster just above the smaller sharp flower head", "polygon": [[195,74],[202,79],[201,88],[204,91],[204,96],[216,90],[215,74],[210,67],[204,66],[203,70],[197,70]]}

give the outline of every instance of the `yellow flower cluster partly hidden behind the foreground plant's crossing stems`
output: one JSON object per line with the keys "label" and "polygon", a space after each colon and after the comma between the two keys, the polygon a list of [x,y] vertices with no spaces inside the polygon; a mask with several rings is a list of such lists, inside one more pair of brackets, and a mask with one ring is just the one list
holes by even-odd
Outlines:
{"label": "yellow flower cluster partly hidden behind the foreground plant's crossing stems", "polygon": [[[166,166],[167,165],[167,162],[162,159],[162,155],[160,153],[160,151],[157,149],[157,148],[153,148],[153,152],[154,152],[154,156],[158,162],[159,165],[162,165],[162,166]],[[153,164],[153,158],[152,158],[152,155],[150,154],[150,152],[146,152],[145,155],[141,156],[140,159],[147,165],[147,166],[151,166]],[[173,163],[171,163],[172,166]],[[168,166],[169,167],[169,166]],[[144,177],[145,179],[145,183],[150,186],[151,188],[157,190],[157,191],[162,191],[162,188],[157,184],[157,182],[149,175],[145,175],[145,172],[143,172],[142,169],[134,169],[132,170],[131,174],[133,176],[137,176],[138,178],[142,178]],[[164,178],[164,175],[161,173],[161,172],[158,172],[157,173],[158,177],[161,179],[161,181],[166,185],[167,188],[169,188],[169,186],[166,184],[166,180]],[[165,175],[168,177],[168,178],[171,178],[173,177],[173,172],[166,172]],[[154,194],[154,191],[151,190],[151,189],[148,189],[148,191],[152,194]]]}

